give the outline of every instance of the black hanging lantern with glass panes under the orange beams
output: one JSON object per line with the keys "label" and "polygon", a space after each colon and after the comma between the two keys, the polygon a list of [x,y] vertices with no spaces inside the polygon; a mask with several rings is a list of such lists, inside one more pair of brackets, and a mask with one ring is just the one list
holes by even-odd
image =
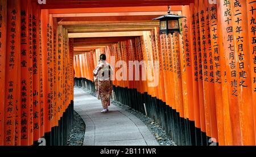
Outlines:
{"label": "black hanging lantern with glass panes under the orange beams", "polygon": [[185,18],[185,16],[170,14],[171,7],[168,6],[168,14],[155,18],[153,20],[160,20],[160,34],[162,33],[171,33],[179,32],[180,33],[180,24],[179,19]]}

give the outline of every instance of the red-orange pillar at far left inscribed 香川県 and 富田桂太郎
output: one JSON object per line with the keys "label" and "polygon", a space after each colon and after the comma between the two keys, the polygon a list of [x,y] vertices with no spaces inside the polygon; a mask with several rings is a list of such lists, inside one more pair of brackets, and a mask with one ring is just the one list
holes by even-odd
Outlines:
{"label": "red-orange pillar at far left inscribed \u9999\u5ddd\u770c and \u5bcc\u7530\u6842\u592a\u90ce", "polygon": [[18,88],[18,67],[20,58],[20,1],[7,3],[7,40],[6,40],[6,89],[5,89],[5,145],[14,145],[15,112]]}

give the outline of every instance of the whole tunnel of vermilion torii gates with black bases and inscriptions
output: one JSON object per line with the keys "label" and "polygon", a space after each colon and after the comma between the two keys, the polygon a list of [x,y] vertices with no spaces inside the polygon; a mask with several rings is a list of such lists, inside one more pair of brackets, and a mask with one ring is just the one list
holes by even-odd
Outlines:
{"label": "whole tunnel of vermilion torii gates with black bases and inscriptions", "polygon": [[[168,6],[180,32],[152,20]],[[115,100],[176,145],[255,145],[255,19],[253,0],[0,0],[0,145],[66,145],[73,87],[95,91],[100,54]]]}

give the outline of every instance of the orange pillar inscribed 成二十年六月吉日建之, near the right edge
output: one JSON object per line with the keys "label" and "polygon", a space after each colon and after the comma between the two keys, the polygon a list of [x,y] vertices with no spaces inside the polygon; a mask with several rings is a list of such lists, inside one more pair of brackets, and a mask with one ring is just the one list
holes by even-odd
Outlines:
{"label": "orange pillar inscribed \u6210\u4e8c\u5341\u5e74\u516d\u6708\u5409\u65e5\u5efa\u4e4b, near the right edge", "polygon": [[[231,0],[232,6],[232,19],[233,19],[233,32],[234,32],[234,53],[237,63],[237,88],[238,88],[238,104],[240,110],[241,135],[243,145],[255,145],[254,127],[250,127],[254,124],[253,101],[251,99],[251,77],[250,77],[250,54],[249,54],[249,37],[248,37],[248,25],[247,22],[247,9],[246,1]],[[253,43],[251,43],[253,44]]]}

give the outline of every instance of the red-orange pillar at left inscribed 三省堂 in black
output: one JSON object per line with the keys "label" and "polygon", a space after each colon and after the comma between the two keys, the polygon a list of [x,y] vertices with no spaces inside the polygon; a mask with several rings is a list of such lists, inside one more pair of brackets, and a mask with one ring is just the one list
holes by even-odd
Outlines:
{"label": "red-orange pillar at left inscribed \u4e09\u7701\u5802 in black", "polygon": [[33,144],[32,101],[32,6],[23,1],[20,11],[20,144]]}

